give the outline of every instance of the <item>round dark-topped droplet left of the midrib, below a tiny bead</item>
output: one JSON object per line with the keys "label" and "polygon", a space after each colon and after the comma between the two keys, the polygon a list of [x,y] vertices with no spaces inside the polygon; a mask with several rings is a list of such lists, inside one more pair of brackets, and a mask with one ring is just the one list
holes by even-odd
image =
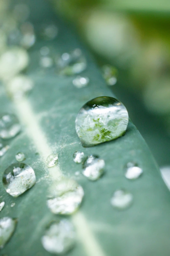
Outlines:
{"label": "round dark-topped droplet left of the midrib, below a tiny bead", "polygon": [[17,197],[34,186],[36,181],[35,172],[31,166],[25,163],[12,163],[5,170],[3,185],[7,193]]}

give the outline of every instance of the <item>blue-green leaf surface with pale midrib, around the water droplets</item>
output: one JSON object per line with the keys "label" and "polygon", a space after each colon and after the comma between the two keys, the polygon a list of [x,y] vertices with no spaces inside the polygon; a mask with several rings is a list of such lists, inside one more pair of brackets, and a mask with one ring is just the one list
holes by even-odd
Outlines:
{"label": "blue-green leaf surface with pale midrib, around the water droplets", "polygon": [[[33,91],[21,100],[9,100],[1,87],[0,109],[15,112],[22,124],[22,132],[10,142],[1,158],[1,180],[4,170],[16,162],[15,154],[25,154],[25,163],[35,171],[34,187],[17,198],[8,195],[1,181],[1,199],[5,207],[0,213],[18,219],[17,228],[2,255],[48,256],[41,245],[41,237],[52,220],[62,218],[46,206],[47,189],[51,179],[61,173],[73,178],[83,187],[85,196],[80,210],[70,219],[78,235],[76,247],[69,255],[79,256],[144,256],[169,255],[170,204],[169,191],[161,179],[158,166],[139,131],[129,121],[124,136],[114,141],[83,148],[75,130],[75,118],[88,100],[97,96],[114,96],[106,87],[99,69],[86,49],[77,41],[74,32],[55,17],[46,1],[29,1],[31,21],[36,29],[44,20],[53,20],[59,28],[56,40],[44,42],[37,38],[30,50],[30,66],[26,71],[35,81]],[[81,48],[87,58],[84,76],[89,86],[78,89],[73,77],[57,76],[53,72],[40,74],[38,52],[41,46],[53,47],[58,54]],[[73,162],[73,153],[99,155],[105,160],[105,175],[96,182],[75,176],[81,165]],[[52,172],[45,160],[50,153],[58,153],[59,167]],[[125,179],[123,168],[135,161],[143,169],[143,176],[135,181]],[[134,195],[133,205],[125,211],[112,208],[110,198],[116,189],[125,188]],[[13,208],[11,203],[15,202]]]}

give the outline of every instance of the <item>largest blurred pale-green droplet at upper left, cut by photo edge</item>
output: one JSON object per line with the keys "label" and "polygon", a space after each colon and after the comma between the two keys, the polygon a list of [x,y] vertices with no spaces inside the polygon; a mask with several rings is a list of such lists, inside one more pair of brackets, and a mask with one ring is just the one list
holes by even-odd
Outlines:
{"label": "largest blurred pale-green droplet at upper left, cut by photo edge", "polygon": [[0,78],[9,79],[27,67],[28,53],[22,48],[12,48],[0,56]]}

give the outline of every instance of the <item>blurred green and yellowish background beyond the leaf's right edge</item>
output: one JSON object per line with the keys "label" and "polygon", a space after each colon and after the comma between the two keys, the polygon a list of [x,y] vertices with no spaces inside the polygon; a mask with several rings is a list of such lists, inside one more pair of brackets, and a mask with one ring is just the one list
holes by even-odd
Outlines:
{"label": "blurred green and yellowish background beyond the leaf's right edge", "polygon": [[101,67],[159,166],[170,165],[170,1],[53,0]]}

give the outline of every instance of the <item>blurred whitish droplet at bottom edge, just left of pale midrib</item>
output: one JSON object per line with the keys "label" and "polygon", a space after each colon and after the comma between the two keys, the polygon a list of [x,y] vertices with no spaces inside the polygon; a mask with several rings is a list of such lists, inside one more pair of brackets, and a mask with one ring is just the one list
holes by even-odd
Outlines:
{"label": "blurred whitish droplet at bottom edge, just left of pale midrib", "polygon": [[53,221],[41,239],[43,247],[50,253],[64,254],[75,245],[76,234],[67,219]]}

